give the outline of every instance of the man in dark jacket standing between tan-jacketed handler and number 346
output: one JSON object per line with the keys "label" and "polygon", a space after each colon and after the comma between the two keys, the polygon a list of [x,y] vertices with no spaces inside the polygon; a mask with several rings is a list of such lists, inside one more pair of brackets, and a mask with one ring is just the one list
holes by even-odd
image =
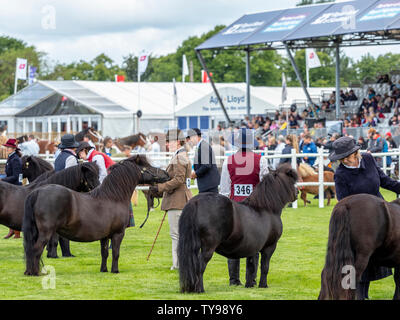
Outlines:
{"label": "man in dark jacket standing between tan-jacketed handler and number 346", "polygon": [[220,176],[211,146],[202,138],[198,128],[189,130],[188,136],[196,147],[191,178],[197,179],[199,192],[218,193]]}

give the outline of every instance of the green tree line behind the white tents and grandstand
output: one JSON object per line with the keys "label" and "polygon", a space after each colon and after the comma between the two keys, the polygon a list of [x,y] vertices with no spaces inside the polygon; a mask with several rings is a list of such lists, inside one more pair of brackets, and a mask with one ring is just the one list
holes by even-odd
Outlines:
{"label": "green tree line behind the white tents and grandstand", "polygon": [[[182,80],[182,56],[193,66],[193,81],[201,81],[201,65],[197,59],[195,48],[212,37],[225,26],[216,26],[213,30],[201,36],[192,36],[184,40],[173,53],[167,55],[150,55],[146,72],[141,81],[170,82]],[[237,50],[204,50],[202,51],[209,71],[213,73],[216,82],[245,82],[246,55]],[[313,87],[335,86],[335,51],[321,49],[317,52],[322,67],[310,70],[310,85]],[[35,46],[29,45],[20,39],[7,36],[0,37],[0,101],[14,91],[14,74],[16,58],[26,58],[30,65],[37,67],[39,80],[93,80],[114,81],[115,75],[124,75],[126,81],[137,81],[137,55],[127,53],[121,65],[115,63],[104,53],[90,61],[80,60],[72,63],[57,62],[49,65],[48,55],[38,51]],[[341,85],[351,86],[354,82],[362,82],[369,77],[376,79],[379,74],[390,73],[400,62],[400,54],[387,53],[373,57],[370,54],[362,56],[358,61],[340,54]],[[305,50],[295,50],[294,59],[300,69],[303,79],[306,77]],[[285,73],[288,86],[299,86],[300,83],[292,65],[280,51],[260,50],[252,51],[251,85],[253,86],[281,86],[282,72]],[[189,81],[189,77],[186,78]],[[20,81],[19,90],[25,86]]]}

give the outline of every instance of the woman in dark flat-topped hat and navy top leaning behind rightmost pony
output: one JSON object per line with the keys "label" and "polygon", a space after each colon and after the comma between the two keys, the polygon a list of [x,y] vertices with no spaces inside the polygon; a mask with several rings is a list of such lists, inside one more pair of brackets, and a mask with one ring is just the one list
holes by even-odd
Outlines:
{"label": "woman in dark flat-topped hat and navy top leaning behind rightmost pony", "polygon": [[[334,180],[336,197],[340,201],[345,197],[367,193],[382,198],[380,188],[400,194],[400,182],[388,177],[378,166],[371,153],[360,154],[360,146],[350,137],[341,137],[332,145],[329,159],[339,161]],[[379,280],[392,274],[391,269],[380,266],[368,266],[361,277],[361,299],[368,299],[370,281]]]}

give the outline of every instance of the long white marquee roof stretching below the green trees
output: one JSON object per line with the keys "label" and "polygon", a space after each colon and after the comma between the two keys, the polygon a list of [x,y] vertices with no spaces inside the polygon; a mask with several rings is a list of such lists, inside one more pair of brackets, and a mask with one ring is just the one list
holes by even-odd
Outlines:
{"label": "long white marquee roof stretching below the green trees", "polygon": [[[105,117],[131,117],[132,113],[141,109],[144,119],[172,119],[174,111],[178,114],[180,110],[196,105],[196,102],[214,94],[209,83],[177,82],[175,85],[178,104],[174,110],[172,82],[140,83],[138,108],[137,82],[38,81],[0,102],[0,116],[26,116],[35,112],[42,114],[42,111],[32,109],[52,96],[66,96],[76,101],[77,106],[81,105],[85,110]],[[245,96],[246,92],[246,83],[216,83],[216,87],[218,90],[225,90],[227,94],[237,92]],[[301,88],[288,87],[287,90],[287,103],[295,99],[306,99]],[[321,90],[334,89],[310,88],[310,94],[320,96]],[[281,92],[281,87],[251,86],[250,89],[252,97],[264,102],[263,110],[277,108],[281,104]]]}

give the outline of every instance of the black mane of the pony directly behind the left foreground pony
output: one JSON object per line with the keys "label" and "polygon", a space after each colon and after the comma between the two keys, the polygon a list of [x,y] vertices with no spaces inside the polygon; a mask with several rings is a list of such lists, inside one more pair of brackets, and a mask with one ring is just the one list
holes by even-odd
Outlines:
{"label": "black mane of the pony directly behind the left foreground pony", "polygon": [[[38,182],[36,180],[32,183],[35,187],[39,187],[46,184],[59,184],[67,188],[76,186],[77,181],[79,182],[83,178],[82,167],[87,168],[94,175],[99,175],[99,167],[95,162],[84,162],[77,166],[69,167],[64,170],[58,171],[54,174],[48,175],[47,179],[45,176]],[[46,175],[46,173],[44,173]]]}

